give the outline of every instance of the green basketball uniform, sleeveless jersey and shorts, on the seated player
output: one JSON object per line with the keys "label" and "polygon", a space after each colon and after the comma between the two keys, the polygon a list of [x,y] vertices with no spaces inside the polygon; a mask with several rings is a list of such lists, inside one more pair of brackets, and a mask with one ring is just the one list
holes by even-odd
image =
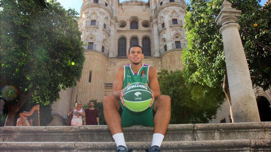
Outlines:
{"label": "green basketball uniform, sleeveless jersey and shorts, on the seated player", "polygon": [[[134,73],[131,69],[131,64],[124,65],[124,76],[123,76],[123,86],[122,88],[125,88],[128,83],[134,83],[134,82],[141,82],[144,84],[149,85],[148,80],[148,72],[150,65],[148,64],[142,64],[142,67],[137,73]],[[153,105],[152,107],[149,107],[147,110],[142,112],[133,112],[130,111],[128,108],[124,107],[119,100],[120,107],[122,108],[123,112],[121,115],[121,126],[123,127],[129,127],[133,125],[143,125],[143,126],[154,126],[153,122]]]}

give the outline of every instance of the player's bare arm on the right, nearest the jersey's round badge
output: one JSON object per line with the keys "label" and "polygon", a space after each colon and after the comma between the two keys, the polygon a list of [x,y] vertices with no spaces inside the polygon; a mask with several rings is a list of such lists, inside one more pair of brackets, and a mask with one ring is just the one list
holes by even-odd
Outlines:
{"label": "player's bare arm on the right, nearest the jersey's round badge", "polygon": [[149,76],[149,88],[153,91],[154,98],[157,98],[158,96],[161,95],[161,92],[157,78],[157,72],[154,67],[150,66],[148,76]]}

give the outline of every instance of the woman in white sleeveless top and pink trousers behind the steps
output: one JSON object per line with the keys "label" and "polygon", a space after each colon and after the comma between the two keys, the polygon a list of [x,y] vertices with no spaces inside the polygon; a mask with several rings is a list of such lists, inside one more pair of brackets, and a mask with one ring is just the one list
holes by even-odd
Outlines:
{"label": "woman in white sleeveless top and pink trousers behind the steps", "polygon": [[82,108],[81,101],[75,103],[75,108],[68,113],[68,117],[72,114],[71,125],[81,126],[83,125],[82,116],[86,116],[84,109]]}

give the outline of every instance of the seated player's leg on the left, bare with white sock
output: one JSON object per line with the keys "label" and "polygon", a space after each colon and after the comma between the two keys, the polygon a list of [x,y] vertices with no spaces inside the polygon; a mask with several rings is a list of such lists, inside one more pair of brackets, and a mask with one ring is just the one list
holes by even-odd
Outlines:
{"label": "seated player's leg on the left, bare with white sock", "polygon": [[119,101],[113,95],[107,95],[103,97],[103,115],[107,126],[115,140],[115,143],[119,151],[127,151],[127,146],[125,144],[122,127],[121,118],[119,115]]}

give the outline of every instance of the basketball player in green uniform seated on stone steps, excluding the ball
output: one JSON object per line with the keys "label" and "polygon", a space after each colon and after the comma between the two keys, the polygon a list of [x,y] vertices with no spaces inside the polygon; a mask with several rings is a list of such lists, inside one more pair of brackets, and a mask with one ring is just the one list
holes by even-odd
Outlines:
{"label": "basketball player in green uniform seated on stone steps, excluding the ball", "polygon": [[[117,151],[127,152],[122,127],[143,125],[154,127],[152,145],[148,152],[160,152],[160,146],[166,134],[171,116],[171,99],[168,95],[161,95],[157,72],[154,67],[143,64],[144,54],[140,45],[129,48],[127,58],[131,64],[117,68],[113,82],[113,95],[103,98],[103,113],[106,123],[117,145]],[[134,82],[147,84],[152,91],[150,107],[142,112],[133,112],[125,107],[123,91]],[[122,108],[122,115],[119,109]],[[153,117],[153,110],[156,112]]]}

